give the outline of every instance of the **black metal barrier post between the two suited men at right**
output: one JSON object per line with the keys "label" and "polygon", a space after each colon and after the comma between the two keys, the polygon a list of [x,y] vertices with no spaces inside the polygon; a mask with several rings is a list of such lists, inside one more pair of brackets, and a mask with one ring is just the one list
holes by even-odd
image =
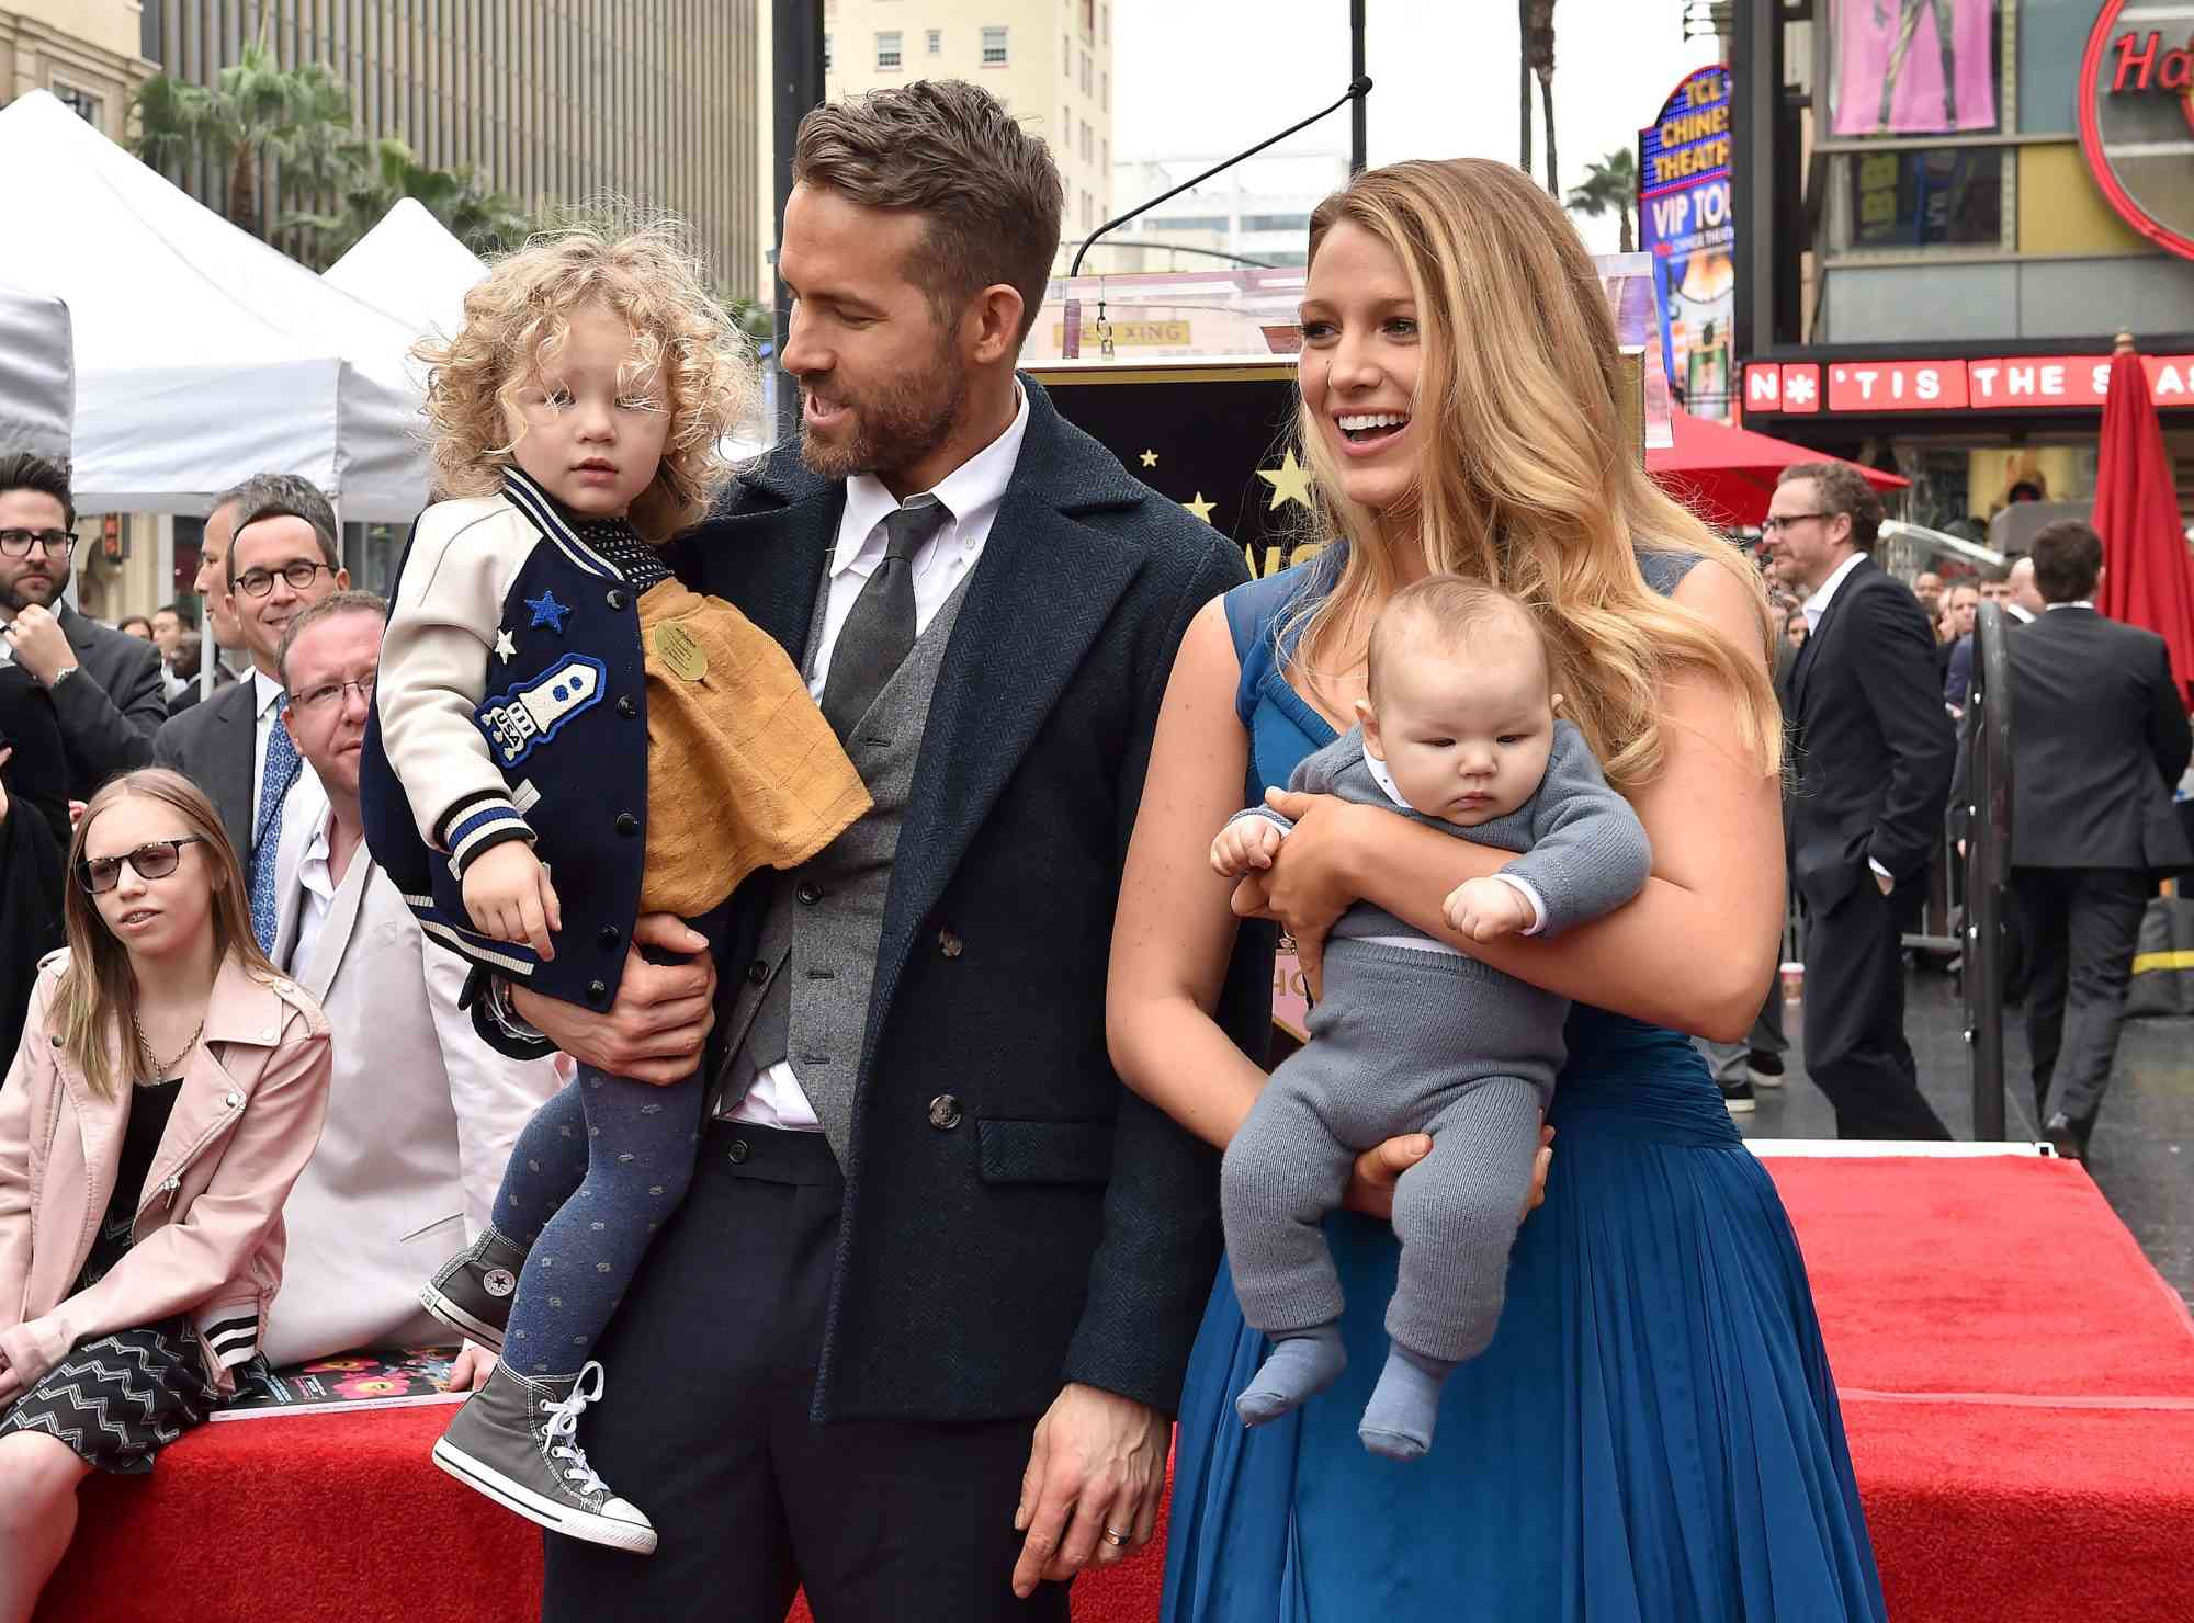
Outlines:
{"label": "black metal barrier post between the two suited men at right", "polygon": [[1966,1059],[1972,1136],[2003,1138],[2003,886],[2012,873],[2010,616],[1981,603],[1972,627],[1975,680],[1966,711]]}

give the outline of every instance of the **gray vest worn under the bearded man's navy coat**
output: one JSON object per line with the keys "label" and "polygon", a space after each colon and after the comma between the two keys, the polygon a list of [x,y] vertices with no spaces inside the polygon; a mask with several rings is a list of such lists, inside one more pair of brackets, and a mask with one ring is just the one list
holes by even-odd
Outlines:
{"label": "gray vest worn under the bearded man's navy coat", "polygon": [[[755,967],[731,1007],[731,1059],[720,1108],[737,1101],[733,1088],[790,1059],[801,1092],[814,1105],[823,1136],[838,1165],[847,1165],[853,1127],[853,1088],[860,1081],[860,1048],[869,1031],[869,991],[875,985],[875,954],[884,939],[884,897],[891,890],[891,860],[900,849],[900,825],[915,785],[921,733],[937,693],[952,625],[974,570],[961,577],[952,597],[915,640],[906,662],[875,695],[869,713],[845,741],[853,768],[875,803],[864,818],[832,840],[821,855],[781,873],[761,919]],[[823,640],[829,583],[816,592],[816,616],[807,647]],[[779,985],[783,991],[777,994]],[[764,1005],[781,998],[783,1046],[774,1018]],[[768,1053],[777,1048],[777,1053]]]}

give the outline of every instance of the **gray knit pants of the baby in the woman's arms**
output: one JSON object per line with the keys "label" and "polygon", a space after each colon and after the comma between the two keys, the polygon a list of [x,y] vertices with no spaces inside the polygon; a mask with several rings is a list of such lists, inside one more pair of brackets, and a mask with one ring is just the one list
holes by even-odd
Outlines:
{"label": "gray knit pants of the baby in the woman's arms", "polygon": [[1567,1013],[1564,998],[1472,958],[1330,939],[1310,1044],[1266,1081],[1220,1171],[1248,1323],[1292,1336],[1341,1316],[1321,1222],[1358,1154],[1426,1132],[1433,1154],[1393,1195],[1402,1266],[1387,1333],[1422,1358],[1485,1351]]}

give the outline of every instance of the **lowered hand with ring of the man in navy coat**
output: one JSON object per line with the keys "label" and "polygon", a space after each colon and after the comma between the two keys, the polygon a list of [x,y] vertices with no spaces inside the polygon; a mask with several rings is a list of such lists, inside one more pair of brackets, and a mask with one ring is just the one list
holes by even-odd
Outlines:
{"label": "lowered hand with ring of the man in navy coat", "polygon": [[[1150,1544],[1165,1494],[1172,1426],[1154,1408],[1097,1386],[1066,1386],[1036,1421],[1029,1469],[1020,1476],[1014,1531],[1029,1537],[1014,1564],[1014,1594],[1064,1584],[1090,1557],[1112,1566]],[[1112,1542],[1106,1533],[1123,1533]]]}

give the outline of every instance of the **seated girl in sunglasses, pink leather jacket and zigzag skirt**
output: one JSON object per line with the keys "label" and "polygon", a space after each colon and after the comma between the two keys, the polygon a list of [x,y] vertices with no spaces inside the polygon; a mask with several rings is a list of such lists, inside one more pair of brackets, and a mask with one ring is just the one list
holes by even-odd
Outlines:
{"label": "seated girl in sunglasses, pink leather jacket and zigzag skirt", "polygon": [[0,1623],[68,1548],[77,1483],[149,1472],[235,1386],[327,1114],[327,1022],[252,943],[189,779],[92,796],[66,926],[0,1088]]}

